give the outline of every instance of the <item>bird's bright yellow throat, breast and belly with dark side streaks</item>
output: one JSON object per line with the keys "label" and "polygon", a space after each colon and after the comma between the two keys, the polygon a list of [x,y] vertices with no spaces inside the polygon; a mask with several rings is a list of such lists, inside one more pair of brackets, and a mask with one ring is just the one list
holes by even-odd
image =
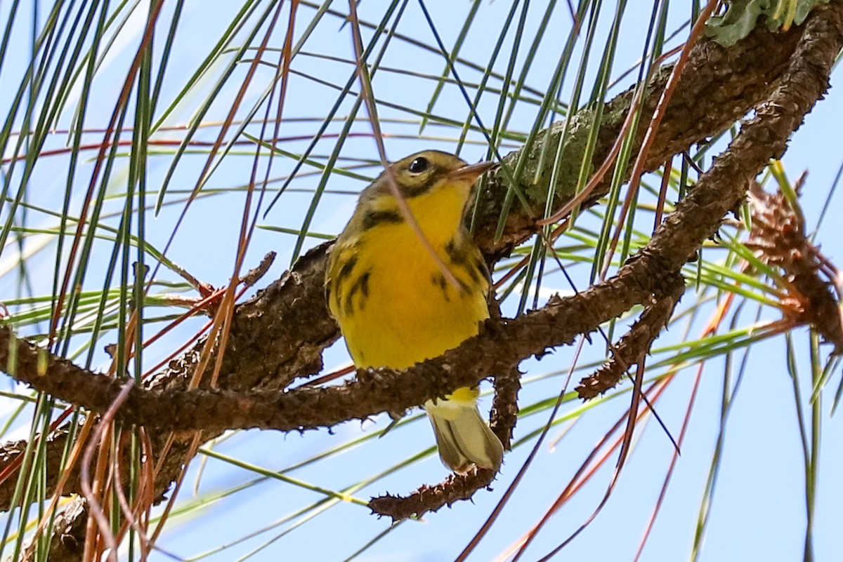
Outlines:
{"label": "bird's bright yellow throat, breast and belly with dark side streaks", "polygon": [[[456,285],[403,219],[382,221],[331,251],[330,310],[357,367],[407,368],[437,357],[489,317],[486,265],[462,227],[469,187],[432,190],[410,202]],[[378,204],[369,210],[384,212]]]}

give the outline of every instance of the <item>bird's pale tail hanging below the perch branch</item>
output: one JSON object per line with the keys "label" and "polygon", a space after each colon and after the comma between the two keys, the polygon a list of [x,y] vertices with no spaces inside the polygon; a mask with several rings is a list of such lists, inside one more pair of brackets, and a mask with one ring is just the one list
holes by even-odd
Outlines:
{"label": "bird's pale tail hanging below the perch branch", "polygon": [[448,398],[425,404],[443,464],[458,474],[472,465],[497,472],[503,446],[477,411],[477,389],[457,389]]}

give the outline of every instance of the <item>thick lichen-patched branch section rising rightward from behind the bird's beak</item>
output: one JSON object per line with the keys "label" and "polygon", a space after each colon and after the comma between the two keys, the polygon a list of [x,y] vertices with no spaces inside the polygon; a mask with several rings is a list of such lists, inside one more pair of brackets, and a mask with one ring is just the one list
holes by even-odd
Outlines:
{"label": "thick lichen-patched branch section rising rightward from behind the bird's beak", "polygon": [[[765,25],[757,25],[745,40],[729,49],[711,40],[701,40],[695,45],[647,154],[644,170],[658,169],[674,154],[728,129],[764,100],[771,91],[771,84],[778,81],[787,69],[803,29],[794,27],[787,33],[774,34]],[[636,130],[635,151],[641,146],[671,70],[672,66],[658,69],[647,87]],[[609,155],[620,135],[635,90],[636,87],[631,87],[604,105],[593,153],[594,167]],[[580,162],[586,139],[593,128],[594,113],[593,109],[584,109],[572,117],[569,140],[561,152],[561,170],[555,186],[557,209],[572,199],[577,189]],[[514,151],[503,159],[507,165],[515,167],[520,158],[527,158],[519,185],[536,216],[545,209],[556,149],[564,128],[564,121],[551,125],[538,136],[534,146]],[[545,154],[544,158],[542,154]],[[627,173],[631,171],[631,165]],[[485,183],[475,224],[475,239],[485,252],[496,257],[505,255],[535,231],[527,209],[513,203],[507,215],[507,229],[502,239],[495,241],[497,221],[507,191],[504,177],[502,172],[493,172],[492,180]],[[606,194],[608,188],[607,178],[594,191],[592,201]]]}

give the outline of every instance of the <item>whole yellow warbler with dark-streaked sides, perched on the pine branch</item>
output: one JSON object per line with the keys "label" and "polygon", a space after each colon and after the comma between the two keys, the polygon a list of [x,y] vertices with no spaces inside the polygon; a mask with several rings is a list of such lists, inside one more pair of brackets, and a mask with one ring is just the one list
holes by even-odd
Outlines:
{"label": "whole yellow warbler with dark-streaked sides, perched on the pine branch", "polygon": [[[362,192],[325,275],[330,312],[358,368],[405,369],[437,357],[489,317],[489,271],[463,220],[471,186],[490,167],[424,151]],[[437,258],[405,220],[393,179]],[[503,447],[477,411],[477,394],[460,388],[424,405],[439,456],[457,473],[501,467]]]}

